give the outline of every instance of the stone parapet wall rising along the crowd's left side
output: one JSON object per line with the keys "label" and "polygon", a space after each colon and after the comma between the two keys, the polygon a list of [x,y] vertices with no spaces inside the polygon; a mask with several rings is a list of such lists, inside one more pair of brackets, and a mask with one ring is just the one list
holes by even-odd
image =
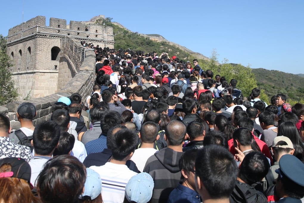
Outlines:
{"label": "stone parapet wall rising along the crowd's left side", "polygon": [[79,72],[59,92],[40,98],[19,100],[5,104],[4,106],[0,106],[0,113],[9,117],[12,129],[20,128],[20,122],[16,116],[17,108],[23,102],[30,102],[36,106],[37,110],[37,115],[33,120],[34,125],[41,121],[50,120],[51,107],[60,97],[69,97],[73,93],[79,93],[82,96],[82,101],[85,101],[92,91],[95,80],[94,70],[95,53],[92,50],[87,50]]}

